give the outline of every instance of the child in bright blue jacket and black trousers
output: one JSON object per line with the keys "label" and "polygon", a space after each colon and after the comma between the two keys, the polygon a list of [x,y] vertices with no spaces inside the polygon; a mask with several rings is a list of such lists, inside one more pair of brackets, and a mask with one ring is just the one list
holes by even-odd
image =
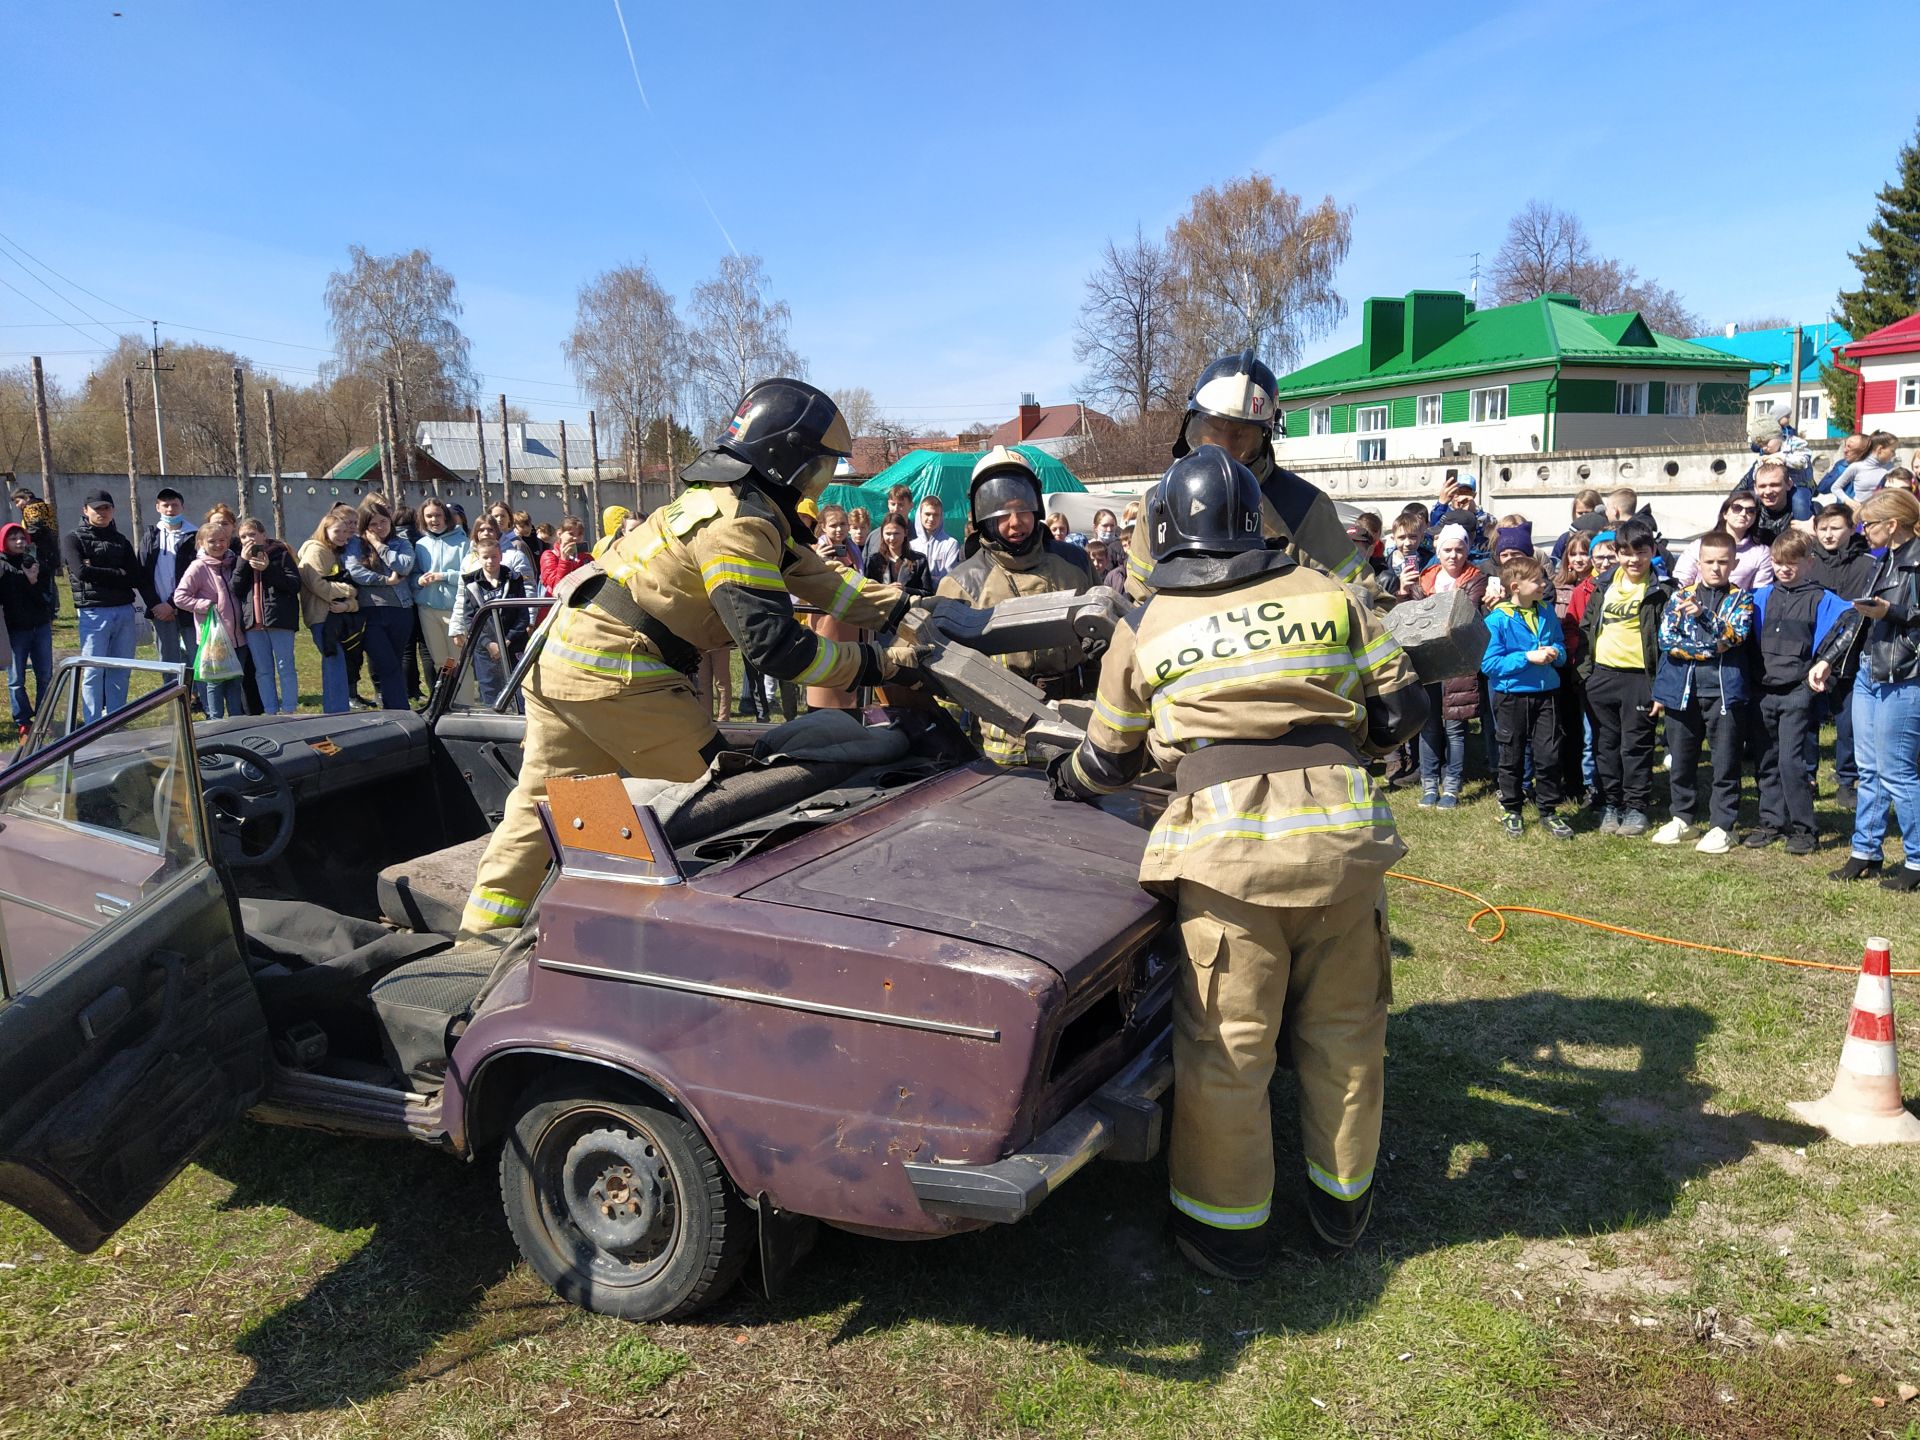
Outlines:
{"label": "child in bright blue jacket and black trousers", "polygon": [[1542,599],[1546,568],[1532,555],[1500,566],[1507,597],[1486,612],[1486,653],[1480,672],[1494,693],[1494,733],[1500,737],[1500,824],[1509,835],[1526,831],[1521,820],[1521,766],[1526,745],[1534,749],[1534,801],[1540,824],[1555,839],[1572,839],[1572,826],[1555,810],[1561,801],[1559,666],[1567,662],[1567,639],[1559,616]]}

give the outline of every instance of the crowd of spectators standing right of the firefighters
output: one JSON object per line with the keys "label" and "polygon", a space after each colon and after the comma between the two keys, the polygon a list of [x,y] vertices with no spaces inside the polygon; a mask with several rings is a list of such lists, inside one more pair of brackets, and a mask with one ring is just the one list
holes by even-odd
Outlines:
{"label": "crowd of spectators standing right of the firefighters", "polygon": [[[1882,883],[1920,889],[1920,499],[1903,480],[1891,468],[1866,497],[1822,507],[1768,451],[1678,555],[1632,490],[1584,492],[1549,563],[1524,516],[1482,511],[1471,480],[1407,505],[1386,536],[1361,516],[1350,534],[1382,586],[1465,589],[1488,630],[1478,678],[1428,687],[1427,730],[1388,783],[1417,776],[1423,808],[1455,808],[1478,720],[1509,835],[1532,803],[1542,829],[1572,839],[1584,803],[1603,835],[1811,854],[1832,718],[1837,801],[1857,810],[1834,877],[1882,874],[1891,804],[1916,845]],[[1757,824],[1740,835],[1749,780]]]}

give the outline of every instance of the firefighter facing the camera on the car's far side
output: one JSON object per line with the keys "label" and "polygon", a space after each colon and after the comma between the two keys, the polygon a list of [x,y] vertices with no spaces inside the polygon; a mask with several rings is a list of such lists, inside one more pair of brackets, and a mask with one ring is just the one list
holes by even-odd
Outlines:
{"label": "firefighter facing the camera on the car's far side", "polygon": [[[1352,549],[1352,541],[1348,541]],[[1041,476],[1018,449],[995,445],[973,465],[968,490],[966,559],[941,578],[935,593],[991,609],[1016,595],[1079,595],[1092,576],[1054,549],[1041,524]],[[1066,651],[1018,651],[996,657],[1014,674],[1039,685],[1046,699],[1087,693]],[[996,726],[981,724],[979,747],[995,764],[1025,764],[1027,745]]]}

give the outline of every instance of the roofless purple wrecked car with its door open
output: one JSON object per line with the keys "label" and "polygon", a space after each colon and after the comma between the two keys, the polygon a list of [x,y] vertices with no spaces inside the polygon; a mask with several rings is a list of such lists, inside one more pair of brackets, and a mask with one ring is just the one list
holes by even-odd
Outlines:
{"label": "roofless purple wrecked car with its door open", "polygon": [[[104,666],[134,699],[81,724]],[[0,1200],[92,1250],[240,1114],[419,1140],[497,1162],[559,1294],[651,1319],[816,1221],[952,1235],[1158,1150],[1150,793],[803,716],[689,785],[555,783],[530,924],[455,945],[524,728],[463,691],[194,724],[171,666],[60,668],[0,774]]]}

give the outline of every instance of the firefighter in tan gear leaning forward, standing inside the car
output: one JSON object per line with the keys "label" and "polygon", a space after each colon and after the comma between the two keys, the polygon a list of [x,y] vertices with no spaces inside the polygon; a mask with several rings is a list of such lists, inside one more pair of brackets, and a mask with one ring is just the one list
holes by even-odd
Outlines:
{"label": "firefighter in tan gear leaning forward, standing inside the car", "polygon": [[[868,630],[906,611],[899,586],[824,561],[795,507],[818,497],[852,449],[833,401],[801,380],[747,392],[684,493],[612,540],[555,614],[526,680],[526,753],[488,843],[463,933],[526,920],[547,870],[536,801],[549,780],[624,770],[695,780],[720,732],[693,693],[701,655],[737,645],[747,662],[801,685],[872,685],[908,659],[879,643],[822,639],[789,591]],[[586,574],[586,572],[582,572]]]}

